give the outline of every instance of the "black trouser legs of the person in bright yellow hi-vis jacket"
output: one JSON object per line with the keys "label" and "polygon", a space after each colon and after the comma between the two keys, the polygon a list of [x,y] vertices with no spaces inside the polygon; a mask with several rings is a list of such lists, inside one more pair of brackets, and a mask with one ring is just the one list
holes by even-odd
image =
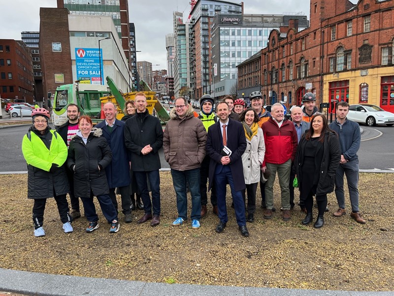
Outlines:
{"label": "black trouser legs of the person in bright yellow hi-vis jacket", "polygon": [[[72,222],[72,218],[69,215],[69,208],[66,199],[66,194],[61,194],[58,196],[55,194],[55,192],[53,194],[56,200],[56,204],[58,206],[60,220],[62,221],[62,223]],[[34,205],[33,205],[34,229],[41,227],[44,223],[45,205],[46,205],[46,198],[34,199]]]}

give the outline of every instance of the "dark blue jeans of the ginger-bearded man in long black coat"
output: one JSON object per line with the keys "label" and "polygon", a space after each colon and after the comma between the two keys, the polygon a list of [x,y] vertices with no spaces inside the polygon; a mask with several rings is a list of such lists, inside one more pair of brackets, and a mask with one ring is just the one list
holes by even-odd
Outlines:
{"label": "dark blue jeans of the ginger-bearded man in long black coat", "polygon": [[[160,175],[159,170],[149,171],[149,172],[133,172],[135,175],[135,180],[137,181],[137,186],[141,194],[141,199],[144,204],[145,214],[152,214],[160,216]],[[148,191],[148,182],[146,178],[149,179],[152,191],[152,202]]]}

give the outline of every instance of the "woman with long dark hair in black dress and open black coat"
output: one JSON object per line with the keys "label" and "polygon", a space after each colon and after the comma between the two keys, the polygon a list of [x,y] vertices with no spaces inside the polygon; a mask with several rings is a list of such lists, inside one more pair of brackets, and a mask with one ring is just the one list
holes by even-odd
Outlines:
{"label": "woman with long dark hair in black dress and open black coat", "polygon": [[313,220],[313,195],[316,195],[318,218],[314,227],[324,225],[327,194],[334,190],[335,171],[340,159],[337,134],[328,127],[325,115],[314,115],[309,130],[298,143],[295,160],[300,200],[307,211],[302,224],[307,225]]}

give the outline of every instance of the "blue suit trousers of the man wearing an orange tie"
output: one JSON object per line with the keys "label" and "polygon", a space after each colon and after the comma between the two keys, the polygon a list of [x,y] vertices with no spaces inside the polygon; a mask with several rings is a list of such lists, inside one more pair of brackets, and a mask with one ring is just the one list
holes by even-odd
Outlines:
{"label": "blue suit trousers of the man wearing an orange tie", "polygon": [[221,222],[227,223],[229,218],[227,217],[227,206],[226,206],[226,187],[230,185],[232,201],[234,203],[235,218],[238,226],[246,225],[245,219],[245,203],[242,198],[242,190],[234,190],[234,181],[231,174],[229,165],[217,164],[214,174],[215,185],[216,185],[216,197],[218,205],[218,214]]}

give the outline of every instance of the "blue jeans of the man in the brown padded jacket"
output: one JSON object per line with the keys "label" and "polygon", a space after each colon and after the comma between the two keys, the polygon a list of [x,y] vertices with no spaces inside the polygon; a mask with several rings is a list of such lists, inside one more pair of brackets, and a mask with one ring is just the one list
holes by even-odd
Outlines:
{"label": "blue jeans of the man in the brown padded jacket", "polygon": [[201,218],[201,194],[200,194],[200,169],[177,171],[171,169],[172,183],[176,193],[176,207],[178,216],[183,220],[187,219],[188,196],[186,194],[186,182],[189,184],[192,195],[192,220]]}

